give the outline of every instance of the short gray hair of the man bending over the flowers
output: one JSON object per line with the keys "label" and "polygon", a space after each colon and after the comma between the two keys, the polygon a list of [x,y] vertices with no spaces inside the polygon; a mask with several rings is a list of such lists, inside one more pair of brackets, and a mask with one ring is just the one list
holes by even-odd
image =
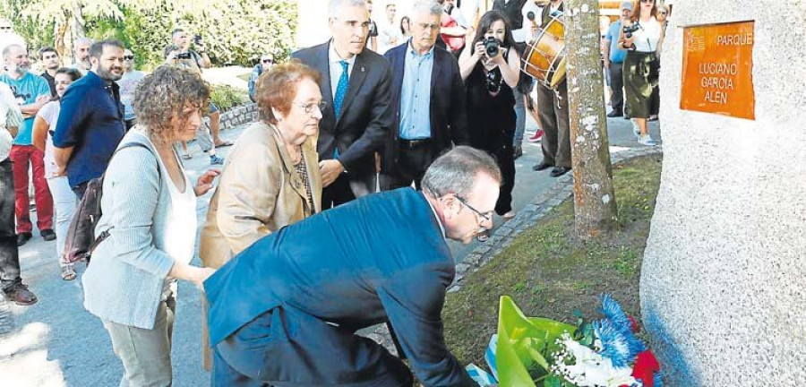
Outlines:
{"label": "short gray hair of the man bending over the flowers", "polygon": [[502,182],[501,170],[484,150],[458,146],[435,159],[423,176],[423,191],[441,197],[448,193],[467,197],[481,172]]}

